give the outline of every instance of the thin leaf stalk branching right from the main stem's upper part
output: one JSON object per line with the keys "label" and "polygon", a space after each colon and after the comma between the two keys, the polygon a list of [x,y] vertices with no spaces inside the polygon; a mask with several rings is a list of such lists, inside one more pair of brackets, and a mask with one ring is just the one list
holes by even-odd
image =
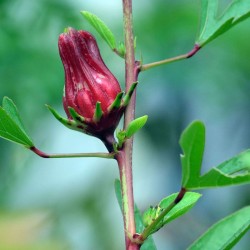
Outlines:
{"label": "thin leaf stalk branching right from the main stem's upper part", "polygon": [[168,64],[168,63],[172,63],[172,62],[177,62],[177,61],[180,61],[180,60],[183,60],[183,59],[190,58],[193,55],[195,55],[200,48],[201,48],[200,45],[195,44],[194,48],[190,52],[188,52],[186,54],[179,55],[179,56],[172,57],[172,58],[168,58],[168,59],[165,59],[165,60],[162,60],[162,61],[158,61],[158,62],[144,64],[144,65],[141,66],[140,70],[141,71],[145,71],[145,70],[157,67],[157,66],[161,66],[161,65],[164,65],[164,64]]}

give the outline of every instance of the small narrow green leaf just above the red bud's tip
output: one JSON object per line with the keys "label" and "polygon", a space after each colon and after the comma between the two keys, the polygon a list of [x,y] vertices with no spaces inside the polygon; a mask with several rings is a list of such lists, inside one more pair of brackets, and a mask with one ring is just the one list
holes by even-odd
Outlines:
{"label": "small narrow green leaf just above the red bud's tip", "polygon": [[109,47],[114,50],[116,48],[115,36],[107,25],[96,15],[88,12],[81,11],[83,17],[96,29],[96,31],[101,35],[101,37],[106,41]]}

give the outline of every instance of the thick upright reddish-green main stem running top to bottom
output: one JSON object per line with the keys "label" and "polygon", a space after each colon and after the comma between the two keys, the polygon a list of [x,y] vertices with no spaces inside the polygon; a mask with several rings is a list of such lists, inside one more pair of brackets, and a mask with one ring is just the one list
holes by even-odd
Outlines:
{"label": "thick upright reddish-green main stem running top to bottom", "polygon": [[[125,81],[126,92],[131,85],[137,81],[138,72],[134,55],[134,36],[132,25],[132,0],[123,0],[123,23],[125,34]],[[132,95],[124,115],[124,129],[134,120],[135,117],[136,93]],[[124,143],[121,151],[115,156],[120,170],[120,181],[122,191],[123,220],[125,231],[126,250],[137,250],[139,245],[131,241],[131,237],[136,233],[134,218],[134,195],[133,195],[133,175],[132,175],[132,150],[133,139]]]}

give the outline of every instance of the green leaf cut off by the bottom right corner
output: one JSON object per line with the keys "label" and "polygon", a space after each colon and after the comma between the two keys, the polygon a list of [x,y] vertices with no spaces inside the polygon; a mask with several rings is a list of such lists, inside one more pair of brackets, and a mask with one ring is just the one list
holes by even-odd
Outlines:
{"label": "green leaf cut off by the bottom right corner", "polygon": [[229,250],[250,229],[250,206],[227,216],[214,224],[196,240],[189,250]]}

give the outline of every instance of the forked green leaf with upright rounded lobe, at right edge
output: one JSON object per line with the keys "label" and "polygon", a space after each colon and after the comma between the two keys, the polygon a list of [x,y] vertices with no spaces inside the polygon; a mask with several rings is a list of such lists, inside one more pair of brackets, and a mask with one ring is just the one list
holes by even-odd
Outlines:
{"label": "forked green leaf with upright rounded lobe, at right edge", "polygon": [[180,145],[182,186],[189,190],[240,185],[250,182],[250,150],[247,150],[200,176],[205,145],[205,127],[195,121],[184,130]]}

